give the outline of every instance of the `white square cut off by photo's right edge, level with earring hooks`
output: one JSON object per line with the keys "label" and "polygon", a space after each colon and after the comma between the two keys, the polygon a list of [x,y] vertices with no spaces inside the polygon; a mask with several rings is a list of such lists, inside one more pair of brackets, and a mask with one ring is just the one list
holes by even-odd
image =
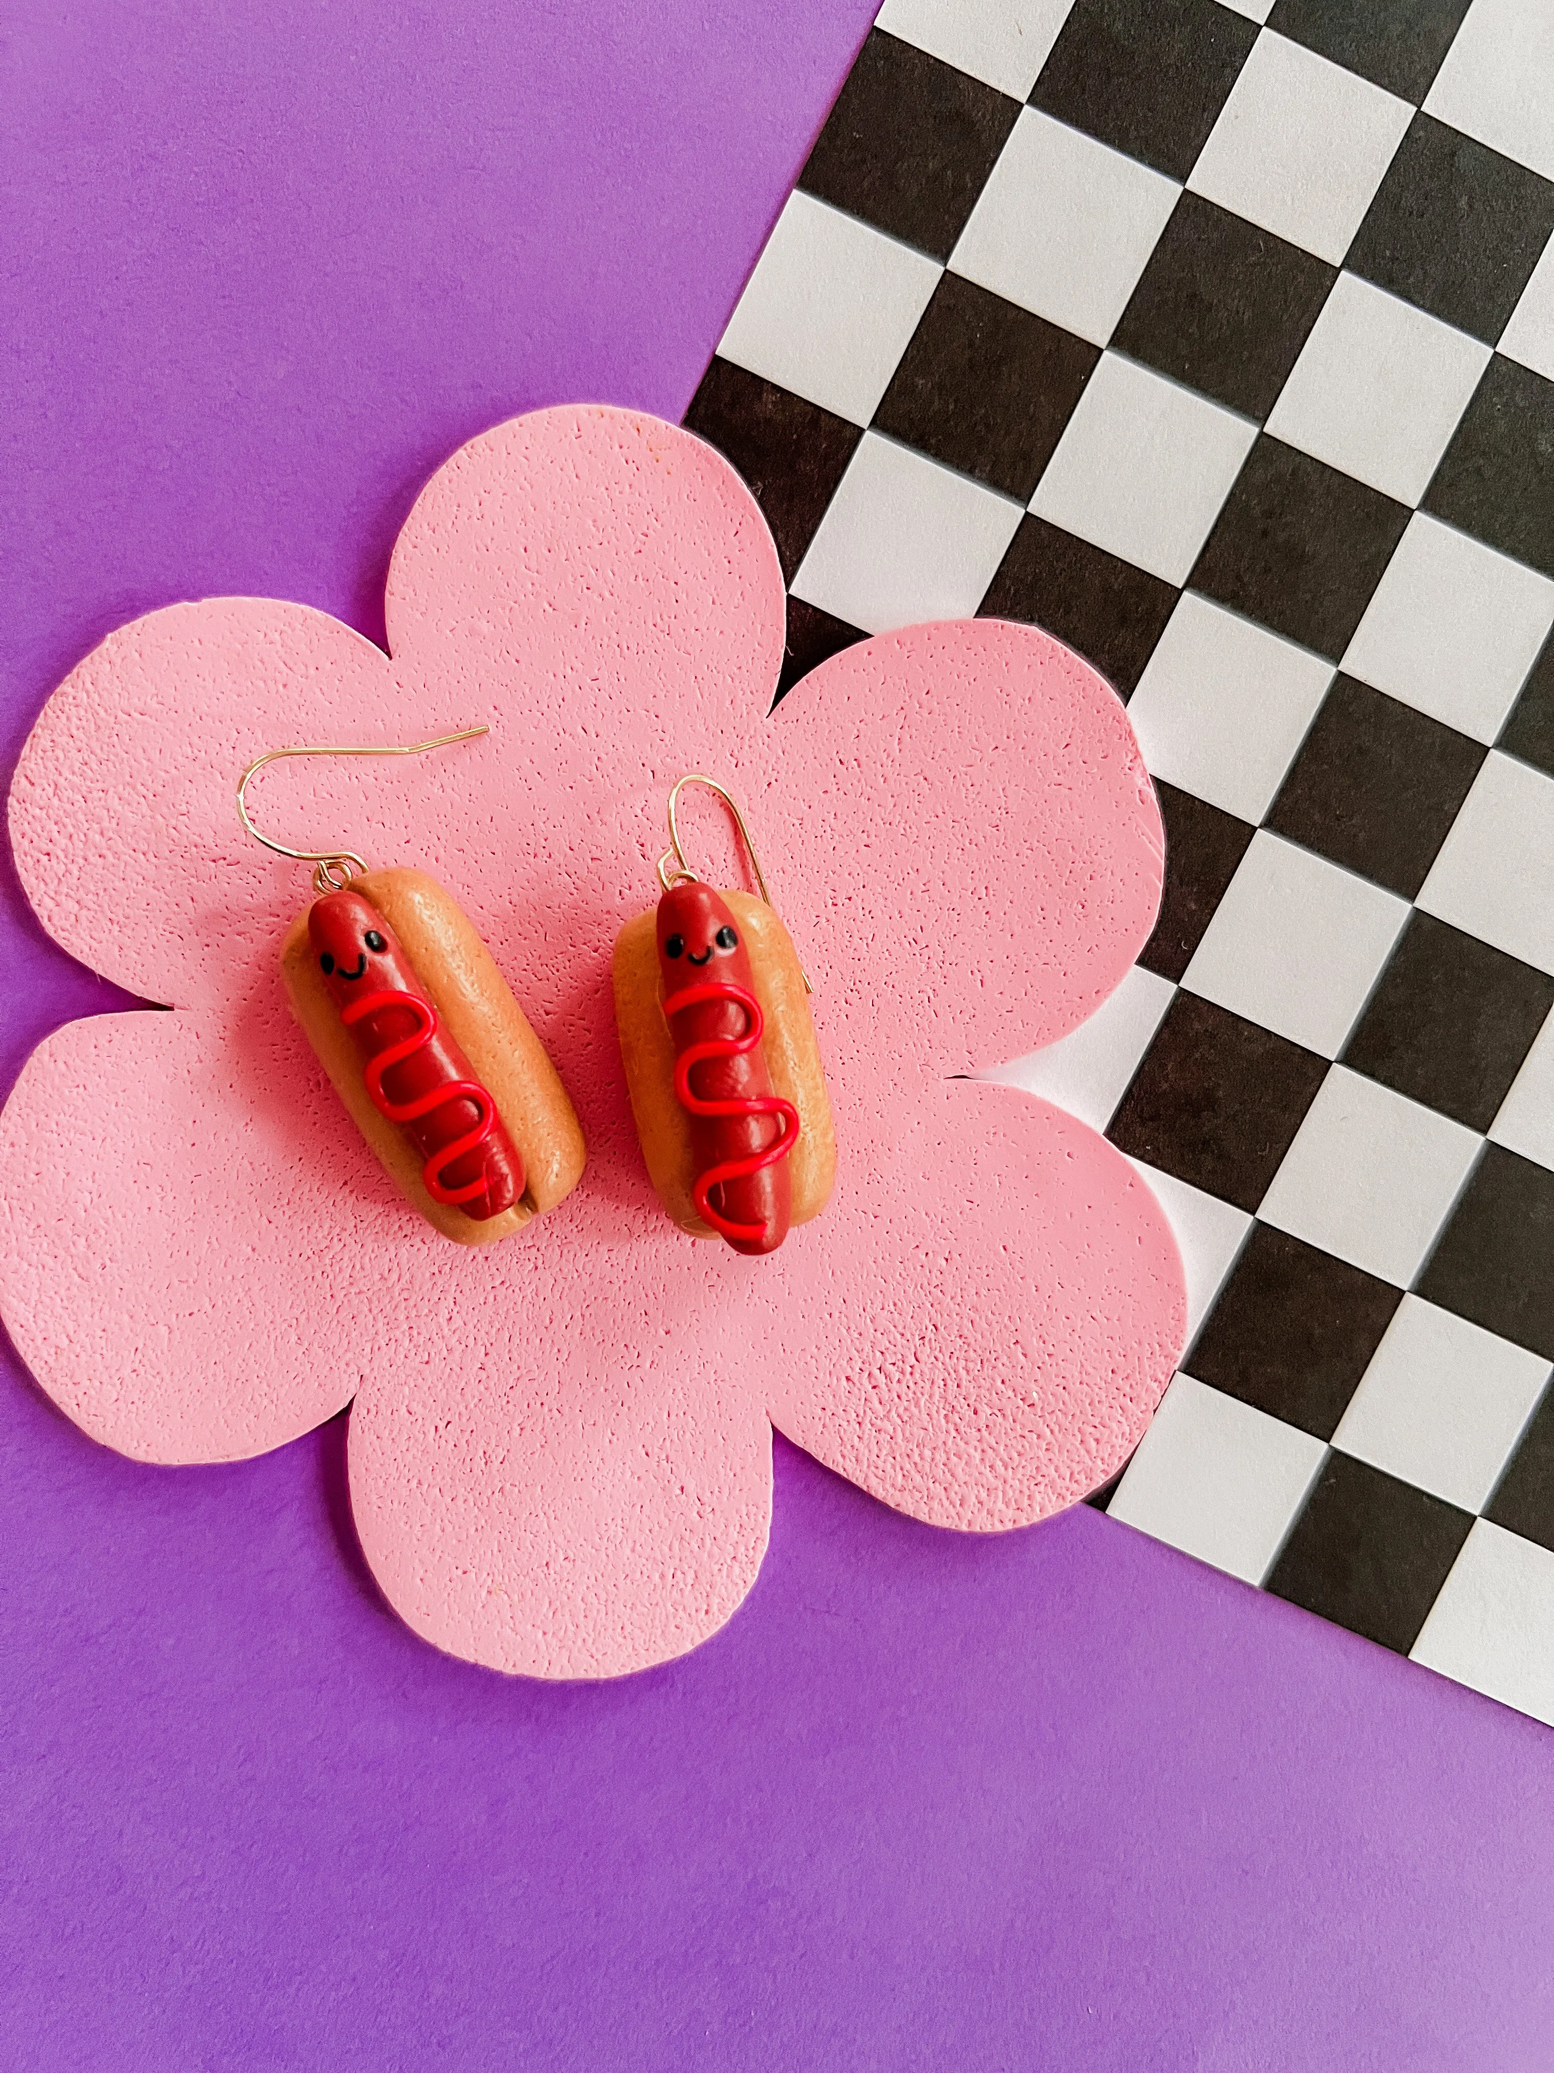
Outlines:
{"label": "white square cut off by photo's right edge, level with earring hooks", "polygon": [[1492,748],[1417,904],[1554,972],[1554,777]]}

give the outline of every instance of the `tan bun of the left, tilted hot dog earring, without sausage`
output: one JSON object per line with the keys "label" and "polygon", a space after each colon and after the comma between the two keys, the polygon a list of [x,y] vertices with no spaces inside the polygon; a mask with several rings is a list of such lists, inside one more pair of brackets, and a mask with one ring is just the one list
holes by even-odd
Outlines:
{"label": "tan bun of the left, tilted hot dog earring, without sausage", "polygon": [[379,1115],[367,1095],[363,1059],[340,1010],[329,999],[307,931],[307,908],[286,931],[280,954],[292,1014],[319,1055],[336,1092],[373,1146],[383,1171],[443,1238],[489,1246],[520,1231],[533,1217],[568,1196],[582,1173],[578,1117],[545,1047],[528,1026],[491,952],[468,916],[425,871],[369,871],[350,881],[387,920],[437,1014],[460,1045],[474,1076],[497,1105],[524,1161],[522,1200],[483,1223],[437,1202],[421,1177],[421,1157],[404,1132]]}

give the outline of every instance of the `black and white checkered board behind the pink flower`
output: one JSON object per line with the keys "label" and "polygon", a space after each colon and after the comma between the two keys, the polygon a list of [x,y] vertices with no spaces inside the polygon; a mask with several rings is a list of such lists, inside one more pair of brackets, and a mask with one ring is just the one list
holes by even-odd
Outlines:
{"label": "black and white checkered board behind the pink flower", "polygon": [[785,682],[1129,701],[1160,925],[1007,1072],[1187,1260],[1102,1503],[1554,1721],[1554,0],[887,0],[686,423]]}

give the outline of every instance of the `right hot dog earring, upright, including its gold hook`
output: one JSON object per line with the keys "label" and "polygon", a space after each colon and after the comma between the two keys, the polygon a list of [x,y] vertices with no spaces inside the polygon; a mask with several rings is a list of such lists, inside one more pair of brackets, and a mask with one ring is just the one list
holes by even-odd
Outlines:
{"label": "right hot dog earring, upright, including its gold hook", "polygon": [[[713,891],[675,808],[702,784],[733,815],[760,898]],[[771,904],[750,829],[721,784],[669,794],[663,898],[615,937],[615,1024],[649,1175],[692,1238],[775,1252],[831,1194],[837,1140],[808,981]]]}

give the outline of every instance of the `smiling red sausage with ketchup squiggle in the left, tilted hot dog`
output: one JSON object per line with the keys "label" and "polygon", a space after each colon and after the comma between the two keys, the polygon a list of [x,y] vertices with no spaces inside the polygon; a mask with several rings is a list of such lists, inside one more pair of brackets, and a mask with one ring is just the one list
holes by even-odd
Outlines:
{"label": "smiling red sausage with ketchup squiggle in the left, tilted hot dog", "polygon": [[307,916],[323,983],[367,1059],[367,1092],[425,1159],[437,1202],[485,1223],[524,1192],[524,1163],[495,1101],[437,1018],[390,925],[361,893],[325,893]]}

